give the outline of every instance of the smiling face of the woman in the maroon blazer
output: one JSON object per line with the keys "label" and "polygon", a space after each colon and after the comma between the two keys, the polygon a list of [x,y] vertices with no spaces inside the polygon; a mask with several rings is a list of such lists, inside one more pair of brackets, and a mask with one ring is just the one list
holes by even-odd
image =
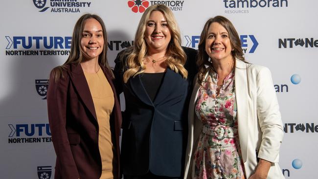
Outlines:
{"label": "smiling face of the woman in the maroon blazer", "polygon": [[81,39],[84,59],[86,61],[91,59],[98,60],[98,56],[102,53],[103,47],[104,37],[102,26],[95,19],[86,20]]}

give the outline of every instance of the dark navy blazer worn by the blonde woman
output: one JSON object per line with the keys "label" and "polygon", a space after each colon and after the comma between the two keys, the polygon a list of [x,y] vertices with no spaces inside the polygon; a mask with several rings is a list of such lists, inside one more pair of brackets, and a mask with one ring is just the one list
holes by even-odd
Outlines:
{"label": "dark navy blazer worn by the blonde woman", "polygon": [[116,91],[124,92],[121,167],[124,175],[141,176],[151,172],[159,176],[181,177],[187,143],[187,113],[193,78],[197,73],[197,51],[182,47],[187,61],[188,78],[167,68],[157,96],[152,101],[140,76],[125,84],[123,72],[126,56],[115,59]]}

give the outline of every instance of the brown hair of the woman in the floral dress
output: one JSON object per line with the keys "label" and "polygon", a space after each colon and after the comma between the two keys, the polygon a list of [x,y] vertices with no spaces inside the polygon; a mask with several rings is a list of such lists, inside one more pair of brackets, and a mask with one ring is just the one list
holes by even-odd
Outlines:
{"label": "brown hair of the woman in the floral dress", "polygon": [[244,58],[244,53],[241,46],[240,37],[237,31],[235,30],[232,22],[230,22],[227,18],[223,16],[216,16],[214,18],[210,18],[209,20],[207,20],[207,22],[205,22],[205,25],[201,32],[200,42],[198,45],[199,53],[198,53],[197,65],[199,67],[198,83],[200,85],[202,85],[202,82],[204,81],[204,75],[206,74],[206,72],[208,72],[209,70],[215,71],[211,61],[208,60],[209,56],[207,55],[205,51],[207,31],[213,22],[218,22],[227,30],[231,47],[232,49],[234,49],[233,51],[231,51],[231,55],[233,57],[234,62],[235,62],[235,59],[237,58],[247,63]]}

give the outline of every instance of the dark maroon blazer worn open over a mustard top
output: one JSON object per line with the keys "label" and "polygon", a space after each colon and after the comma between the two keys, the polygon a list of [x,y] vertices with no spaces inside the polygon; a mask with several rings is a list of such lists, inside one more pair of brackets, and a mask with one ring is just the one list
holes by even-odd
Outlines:
{"label": "dark maroon blazer worn open over a mustard top", "polygon": [[[114,179],[120,179],[119,134],[121,112],[111,73],[101,67],[114,92],[111,114],[112,141],[115,146]],[[99,179],[101,157],[98,148],[98,123],[91,92],[80,65],[67,65],[63,78],[55,82],[50,74],[47,111],[56,153],[55,179]]]}

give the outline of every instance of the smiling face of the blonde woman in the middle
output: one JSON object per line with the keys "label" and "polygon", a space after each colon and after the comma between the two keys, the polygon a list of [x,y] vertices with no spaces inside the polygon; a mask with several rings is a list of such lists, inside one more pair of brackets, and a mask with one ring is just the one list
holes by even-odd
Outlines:
{"label": "smiling face of the blonde woman in the middle", "polygon": [[163,52],[171,40],[170,28],[162,12],[151,12],[146,22],[145,40],[149,51]]}

